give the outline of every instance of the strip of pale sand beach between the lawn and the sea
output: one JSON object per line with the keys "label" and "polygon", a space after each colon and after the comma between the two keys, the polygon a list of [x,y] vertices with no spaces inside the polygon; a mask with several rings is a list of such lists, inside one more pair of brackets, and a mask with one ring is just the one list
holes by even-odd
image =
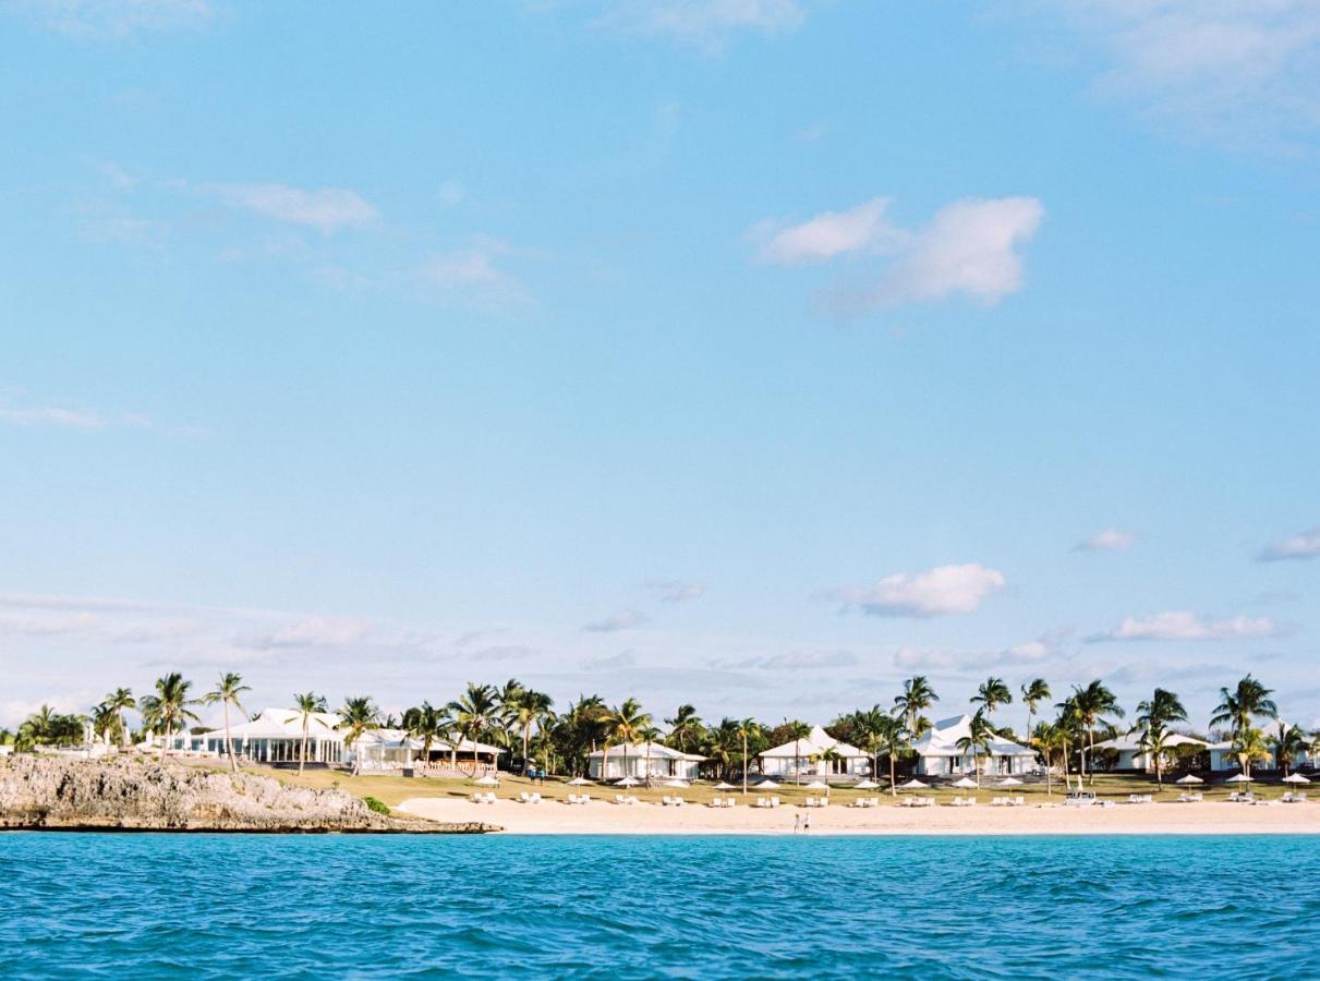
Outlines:
{"label": "strip of pale sand beach between the lawn and the sea", "polygon": [[515,834],[792,834],[795,819],[807,815],[813,834],[1320,834],[1320,803],[759,809],[413,797],[399,809],[437,821],[482,820]]}

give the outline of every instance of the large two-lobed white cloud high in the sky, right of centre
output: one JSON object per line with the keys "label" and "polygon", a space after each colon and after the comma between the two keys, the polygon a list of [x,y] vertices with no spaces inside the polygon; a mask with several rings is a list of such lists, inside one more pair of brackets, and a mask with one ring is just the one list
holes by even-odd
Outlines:
{"label": "large two-lobed white cloud high in the sky, right of centre", "polygon": [[763,243],[760,259],[781,265],[887,254],[888,261],[861,285],[836,284],[825,293],[825,305],[841,314],[953,296],[994,305],[1022,289],[1019,248],[1044,217],[1036,198],[954,201],[917,231],[886,220],[886,205],[884,198],[873,198],[779,230],[762,222],[750,236]]}

